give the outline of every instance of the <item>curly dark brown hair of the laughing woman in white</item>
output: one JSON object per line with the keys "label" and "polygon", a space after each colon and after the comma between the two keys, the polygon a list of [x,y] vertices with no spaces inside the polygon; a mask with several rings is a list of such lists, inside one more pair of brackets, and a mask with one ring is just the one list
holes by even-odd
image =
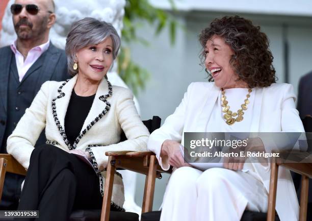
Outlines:
{"label": "curly dark brown hair of the laughing woman in white", "polygon": [[[203,66],[206,42],[214,35],[223,37],[225,43],[234,51],[229,63],[238,75],[237,81],[246,82],[250,88],[268,87],[276,82],[269,40],[259,26],[254,26],[250,20],[240,16],[214,19],[210,27],[202,30],[199,35]],[[209,77],[209,81],[213,81],[211,73]]]}

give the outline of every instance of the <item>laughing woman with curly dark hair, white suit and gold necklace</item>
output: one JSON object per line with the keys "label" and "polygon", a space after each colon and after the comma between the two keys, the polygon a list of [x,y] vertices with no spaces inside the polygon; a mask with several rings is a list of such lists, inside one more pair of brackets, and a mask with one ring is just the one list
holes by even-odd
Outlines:
{"label": "laughing woman with curly dark hair, white suit and gold necklace", "polygon": [[[293,87],[275,83],[269,41],[259,27],[239,16],[223,17],[212,21],[199,41],[211,82],[190,84],[175,112],[148,141],[162,168],[174,167],[161,221],[240,220],[245,210],[267,211],[269,163],[189,164],[183,157],[184,132],[304,132]],[[247,148],[270,145],[252,138]],[[297,220],[290,171],[279,169],[276,211],[281,221]]]}

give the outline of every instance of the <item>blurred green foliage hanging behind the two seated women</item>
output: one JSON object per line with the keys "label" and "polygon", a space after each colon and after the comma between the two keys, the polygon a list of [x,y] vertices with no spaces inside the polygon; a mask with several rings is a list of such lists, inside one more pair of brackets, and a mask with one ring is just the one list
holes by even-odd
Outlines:
{"label": "blurred green foliage hanging behind the two seated women", "polygon": [[[173,0],[168,1],[172,9],[175,10]],[[143,22],[148,22],[151,25],[156,24],[157,28],[154,34],[159,35],[168,26],[171,44],[174,44],[177,22],[170,13],[151,6],[148,0],[126,0],[124,11],[121,32],[122,45],[118,56],[118,73],[133,92],[138,94],[140,89],[145,88],[150,73],[131,59],[129,43],[140,42],[146,46],[149,45],[144,36],[137,36],[136,30],[142,26]]]}

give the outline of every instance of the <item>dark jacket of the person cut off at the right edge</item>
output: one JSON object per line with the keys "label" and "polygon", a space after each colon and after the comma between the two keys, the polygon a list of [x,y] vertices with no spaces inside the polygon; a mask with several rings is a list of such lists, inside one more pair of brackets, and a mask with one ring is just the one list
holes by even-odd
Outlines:
{"label": "dark jacket of the person cut off at the right edge", "polygon": [[297,109],[300,117],[312,116],[312,71],[303,76],[299,81]]}

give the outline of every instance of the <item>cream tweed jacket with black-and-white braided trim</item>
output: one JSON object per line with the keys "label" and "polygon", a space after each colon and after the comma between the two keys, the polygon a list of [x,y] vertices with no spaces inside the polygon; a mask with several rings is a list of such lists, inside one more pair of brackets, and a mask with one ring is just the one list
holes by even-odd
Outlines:
{"label": "cream tweed jacket with black-and-white braided trim", "polygon": [[[8,138],[7,151],[27,169],[34,145],[45,128],[48,144],[64,151],[76,149],[90,153],[103,193],[103,180],[106,178],[106,171],[103,170],[108,163],[105,152],[146,151],[149,132],[135,108],[132,92],[123,87],[111,86],[103,78],[80,135],[71,145],[64,132],[64,119],[76,80],[77,76],[66,82],[48,81],[41,86],[32,105]],[[119,142],[122,131],[127,140]],[[112,204],[123,210],[123,202],[122,179],[115,175]]]}

